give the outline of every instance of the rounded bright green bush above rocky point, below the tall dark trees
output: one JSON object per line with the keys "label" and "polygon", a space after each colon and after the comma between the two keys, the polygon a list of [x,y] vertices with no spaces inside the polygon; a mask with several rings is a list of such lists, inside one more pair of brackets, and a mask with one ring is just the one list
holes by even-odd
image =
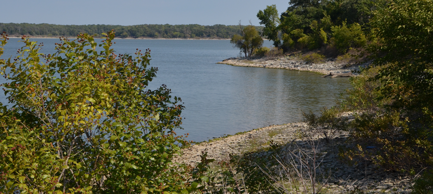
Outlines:
{"label": "rounded bright green bush above rocky point, below the tall dark trees", "polygon": [[353,23],[349,26],[343,22],[341,26],[332,26],[331,44],[341,53],[347,52],[351,47],[362,47],[367,43],[361,26]]}

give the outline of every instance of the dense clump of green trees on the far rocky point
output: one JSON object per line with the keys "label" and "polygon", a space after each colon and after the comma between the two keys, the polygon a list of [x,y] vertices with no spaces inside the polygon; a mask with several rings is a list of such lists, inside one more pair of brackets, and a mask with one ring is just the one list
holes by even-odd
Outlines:
{"label": "dense clump of green trees on the far rocky point", "polygon": [[329,45],[342,53],[365,45],[376,6],[372,0],[290,0],[289,5],[278,20],[275,5],[257,13],[262,34],[274,46],[287,51]]}

